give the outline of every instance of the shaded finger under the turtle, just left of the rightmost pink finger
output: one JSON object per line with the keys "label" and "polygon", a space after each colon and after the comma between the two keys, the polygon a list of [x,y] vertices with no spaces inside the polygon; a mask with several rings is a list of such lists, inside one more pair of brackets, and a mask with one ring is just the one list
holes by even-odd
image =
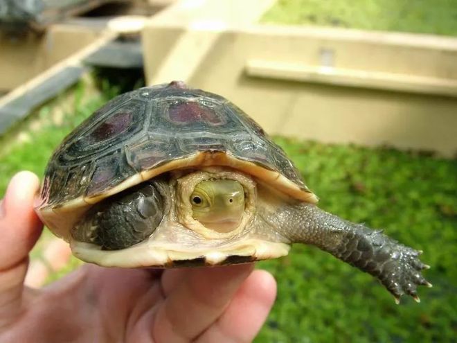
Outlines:
{"label": "shaded finger under the turtle, just left of the rightmost pink finger", "polygon": [[154,313],[154,342],[188,342],[224,312],[253,265],[192,270]]}

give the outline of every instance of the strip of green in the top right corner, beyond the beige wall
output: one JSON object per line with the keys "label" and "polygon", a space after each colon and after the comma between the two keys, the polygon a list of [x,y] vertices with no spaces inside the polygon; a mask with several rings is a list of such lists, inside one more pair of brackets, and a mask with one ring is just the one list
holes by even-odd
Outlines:
{"label": "strip of green in the top right corner, beyond the beige wall", "polygon": [[457,35],[457,1],[278,0],[262,22]]}

